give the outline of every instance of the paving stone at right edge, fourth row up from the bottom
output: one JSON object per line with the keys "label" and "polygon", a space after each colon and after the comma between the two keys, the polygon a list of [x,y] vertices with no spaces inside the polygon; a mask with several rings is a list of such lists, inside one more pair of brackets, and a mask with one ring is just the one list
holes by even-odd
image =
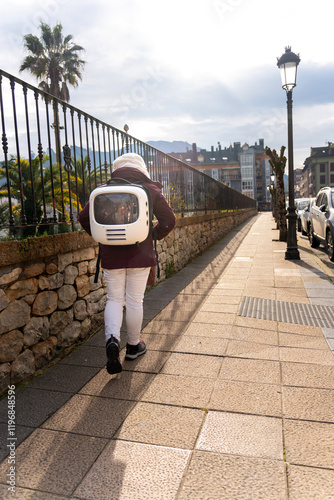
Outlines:
{"label": "paving stone at right edge, fourth row up from the bottom", "polygon": [[281,365],[284,385],[334,389],[334,366],[285,362]]}

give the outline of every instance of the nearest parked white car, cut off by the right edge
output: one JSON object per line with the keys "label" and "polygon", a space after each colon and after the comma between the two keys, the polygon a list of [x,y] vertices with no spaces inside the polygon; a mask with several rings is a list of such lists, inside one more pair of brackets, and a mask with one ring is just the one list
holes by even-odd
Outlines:
{"label": "nearest parked white car, cut off by the right edge", "polygon": [[334,188],[318,192],[310,211],[310,244],[313,248],[324,243],[331,261],[334,261]]}

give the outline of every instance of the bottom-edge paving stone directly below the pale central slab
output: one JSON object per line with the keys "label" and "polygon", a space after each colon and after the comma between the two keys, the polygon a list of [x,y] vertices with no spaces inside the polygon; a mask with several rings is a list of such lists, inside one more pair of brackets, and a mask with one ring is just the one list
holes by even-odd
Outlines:
{"label": "bottom-edge paving stone directly below the pale central slab", "polygon": [[178,500],[286,500],[285,464],[195,451]]}

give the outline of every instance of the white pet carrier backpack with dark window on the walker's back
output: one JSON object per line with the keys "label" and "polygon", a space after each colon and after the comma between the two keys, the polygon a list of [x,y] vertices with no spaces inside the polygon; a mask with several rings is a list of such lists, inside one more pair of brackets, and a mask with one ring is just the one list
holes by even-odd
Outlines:
{"label": "white pet carrier backpack with dark window on the walker's back", "polygon": [[152,201],[145,186],[114,178],[91,192],[92,237],[104,245],[138,245],[152,230]]}

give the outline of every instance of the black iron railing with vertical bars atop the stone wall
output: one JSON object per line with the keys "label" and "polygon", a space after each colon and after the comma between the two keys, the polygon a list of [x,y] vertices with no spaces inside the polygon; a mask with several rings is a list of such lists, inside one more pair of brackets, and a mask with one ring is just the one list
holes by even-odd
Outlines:
{"label": "black iron railing with vertical bars atop the stone wall", "polygon": [[[0,70],[0,236],[76,227],[112,163],[140,154],[175,213],[255,208],[255,200]],[[29,229],[29,230],[28,230]],[[68,230],[67,229],[67,230]],[[31,234],[32,234],[31,233]]]}

